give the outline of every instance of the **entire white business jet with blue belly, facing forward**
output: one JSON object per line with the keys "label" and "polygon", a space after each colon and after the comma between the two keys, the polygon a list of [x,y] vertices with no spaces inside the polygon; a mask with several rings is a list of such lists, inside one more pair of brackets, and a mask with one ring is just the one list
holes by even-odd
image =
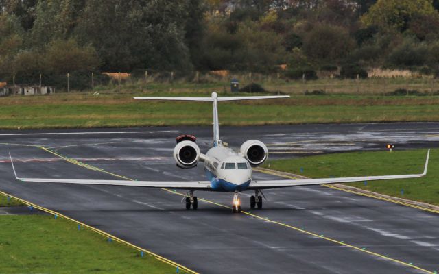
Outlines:
{"label": "entire white business jet with blue belly, facing forward", "polygon": [[[268,158],[268,149],[259,140],[248,140],[241,145],[239,151],[233,151],[223,145],[219,139],[219,121],[217,103],[221,101],[241,101],[257,99],[278,99],[289,96],[253,96],[253,97],[218,97],[216,92],[211,97],[135,97],[143,100],[163,101],[204,101],[213,103],[213,147],[206,154],[200,153],[200,148],[195,143],[195,137],[182,135],[177,138],[177,145],[174,148],[174,159],[177,166],[182,169],[191,169],[198,162],[204,162],[204,171],[207,181],[192,182],[150,182],[150,181],[128,181],[128,180],[95,180],[95,179],[16,179],[23,182],[49,182],[64,184],[101,184],[113,186],[145,186],[149,188],[172,188],[189,190],[186,199],[186,209],[198,208],[198,199],[194,196],[195,190],[233,192],[233,213],[241,212],[241,201],[239,192],[252,190],[254,195],[250,197],[250,208],[262,208],[261,190],[269,188],[284,188],[289,186],[311,186],[316,184],[334,184],[346,182],[377,181],[385,179],[407,179],[423,177],[427,174],[429,153],[425,160],[423,173],[413,175],[387,175],[387,176],[365,176],[365,177],[342,177],[327,179],[284,179],[259,181],[252,179],[252,167],[263,164]],[[11,158],[12,162],[12,158]]]}

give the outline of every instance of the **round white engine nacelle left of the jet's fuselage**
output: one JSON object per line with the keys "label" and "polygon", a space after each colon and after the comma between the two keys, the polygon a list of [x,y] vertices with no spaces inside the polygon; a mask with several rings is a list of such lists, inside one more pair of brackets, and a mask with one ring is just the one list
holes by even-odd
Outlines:
{"label": "round white engine nacelle left of the jet's fuselage", "polygon": [[200,147],[195,142],[184,140],[179,142],[174,148],[174,160],[177,166],[182,169],[191,169],[200,160]]}

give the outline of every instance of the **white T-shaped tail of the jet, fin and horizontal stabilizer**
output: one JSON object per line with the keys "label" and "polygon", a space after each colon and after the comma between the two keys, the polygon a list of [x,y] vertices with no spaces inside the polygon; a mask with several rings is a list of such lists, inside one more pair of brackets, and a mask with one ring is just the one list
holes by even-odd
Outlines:
{"label": "white T-shaped tail of the jet, fin and horizontal stabilizer", "polygon": [[212,92],[211,97],[134,97],[134,99],[143,99],[143,100],[212,102],[212,104],[213,104],[213,146],[214,147],[222,145],[221,139],[219,138],[218,102],[260,100],[260,99],[280,99],[280,98],[289,98],[289,95],[218,97],[217,92]]}

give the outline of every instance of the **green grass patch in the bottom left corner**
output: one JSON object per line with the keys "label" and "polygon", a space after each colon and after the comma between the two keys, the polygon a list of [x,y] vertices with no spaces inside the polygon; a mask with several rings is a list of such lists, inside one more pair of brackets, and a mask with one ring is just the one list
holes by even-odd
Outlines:
{"label": "green grass patch in the bottom left corner", "polygon": [[176,273],[65,219],[3,215],[0,223],[0,273]]}

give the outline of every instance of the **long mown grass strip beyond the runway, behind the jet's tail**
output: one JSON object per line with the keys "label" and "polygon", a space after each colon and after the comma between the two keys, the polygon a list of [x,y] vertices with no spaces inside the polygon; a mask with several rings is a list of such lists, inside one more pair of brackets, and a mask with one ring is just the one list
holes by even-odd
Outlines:
{"label": "long mown grass strip beyond the runway, behind the jet's tail", "polygon": [[[207,92],[147,92],[209,96]],[[143,95],[143,94],[137,94]],[[56,94],[0,98],[0,128],[211,125],[211,104],[137,101],[132,94]],[[291,99],[221,103],[222,125],[439,121],[439,97],[294,95]]]}

